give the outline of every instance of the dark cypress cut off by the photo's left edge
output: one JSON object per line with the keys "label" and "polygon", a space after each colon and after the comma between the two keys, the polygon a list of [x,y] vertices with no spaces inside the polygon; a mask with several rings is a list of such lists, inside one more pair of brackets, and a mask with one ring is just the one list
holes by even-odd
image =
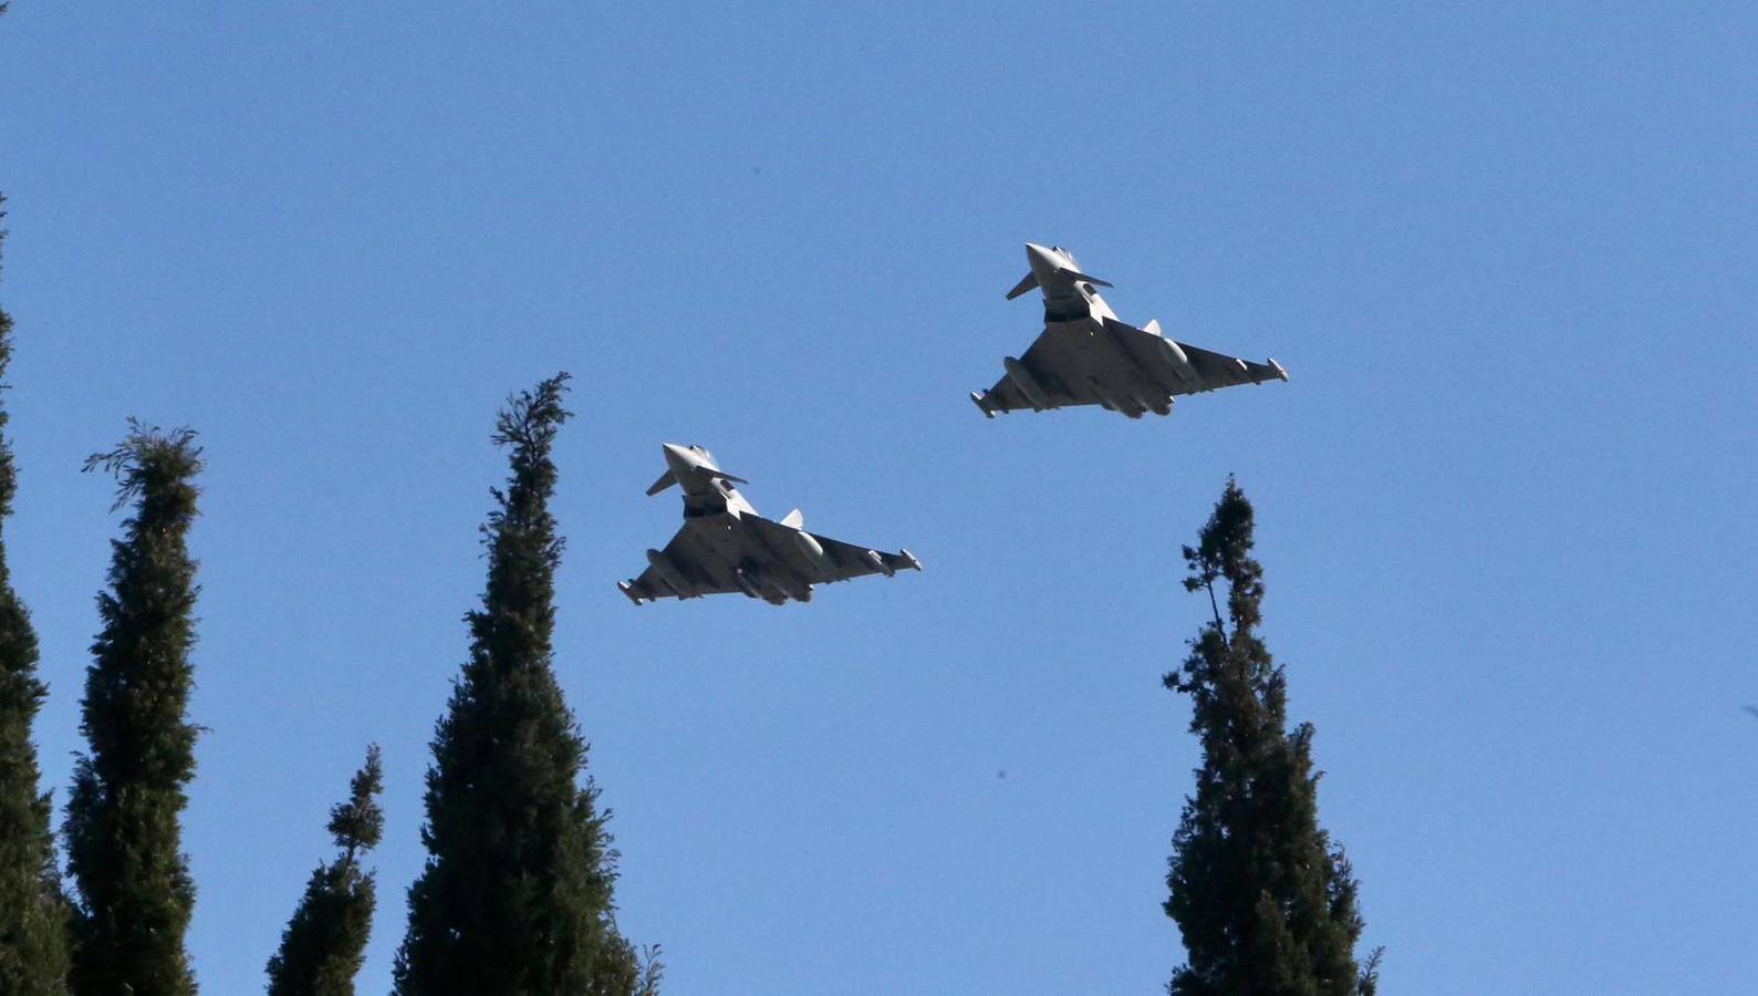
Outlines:
{"label": "dark cypress cut off by the photo's left edge", "polygon": [[[0,12],[5,5],[0,4]],[[5,220],[0,197],[0,220]],[[0,243],[5,231],[0,229]],[[0,389],[12,363],[12,317],[0,308]],[[0,526],[12,516],[18,475],[0,406]],[[37,679],[37,633],[12,590],[0,537],[0,992],[67,992],[67,906],[54,868],[49,794],[39,794],[30,725],[47,688]]]}

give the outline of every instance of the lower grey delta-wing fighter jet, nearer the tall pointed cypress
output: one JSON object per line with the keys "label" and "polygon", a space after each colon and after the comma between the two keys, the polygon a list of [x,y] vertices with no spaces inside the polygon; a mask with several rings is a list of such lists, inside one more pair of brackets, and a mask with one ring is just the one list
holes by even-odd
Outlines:
{"label": "lower grey delta-wing fighter jet, nearer the tall pointed cypress", "polygon": [[770,605],[810,602],[814,584],[921,570],[909,551],[879,553],[809,533],[798,509],[779,523],[758,516],[733,487],[749,480],[721,470],[701,447],[665,443],[665,461],[666,472],[647,494],[677,484],[684,491],[684,528],[663,551],[647,551],[649,567],[640,577],[617,582],[636,605],[723,591],[744,591]]}

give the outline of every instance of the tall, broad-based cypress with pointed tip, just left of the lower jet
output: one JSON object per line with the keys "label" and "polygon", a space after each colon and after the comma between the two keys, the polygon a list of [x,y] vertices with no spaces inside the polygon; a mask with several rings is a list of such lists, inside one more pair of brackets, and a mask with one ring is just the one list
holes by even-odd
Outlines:
{"label": "tall, broad-based cypress with pointed tip, just left of the lower jet", "polygon": [[612,915],[615,852],[585,743],[550,669],[563,540],[548,500],[566,375],[501,410],[512,477],[483,526],[489,584],[468,616],[469,662],[434,734],[429,859],[397,952],[404,996],[626,994],[636,959]]}

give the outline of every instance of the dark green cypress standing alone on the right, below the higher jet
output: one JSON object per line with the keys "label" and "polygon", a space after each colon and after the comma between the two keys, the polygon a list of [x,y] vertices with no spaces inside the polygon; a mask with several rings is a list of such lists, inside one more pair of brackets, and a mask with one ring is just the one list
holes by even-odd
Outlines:
{"label": "dark green cypress standing alone on the right, below the higher jet", "polygon": [[1166,676],[1190,695],[1190,732],[1202,743],[1166,876],[1166,915],[1188,952],[1167,991],[1371,996],[1378,952],[1366,968],[1355,961],[1355,878],[1318,827],[1313,727],[1287,729],[1287,679],[1257,633],[1264,572],[1252,533],[1252,503],[1229,479],[1199,544],[1183,549],[1185,588],[1208,593],[1215,621]]}

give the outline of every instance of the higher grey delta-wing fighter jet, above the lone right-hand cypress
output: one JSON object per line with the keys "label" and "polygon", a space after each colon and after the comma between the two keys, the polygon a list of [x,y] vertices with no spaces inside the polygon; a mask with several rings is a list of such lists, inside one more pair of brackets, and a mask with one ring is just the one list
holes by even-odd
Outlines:
{"label": "higher grey delta-wing fighter jet, above the lone right-hand cypress", "polygon": [[1144,412],[1173,414],[1174,394],[1195,394],[1287,380],[1276,361],[1250,363],[1166,338],[1159,322],[1137,329],[1120,322],[1099,296],[1111,287],[1081,273],[1074,253],[1062,246],[1025,243],[1032,271],[1007,299],[1037,287],[1044,294],[1044,333],[1023,357],[1006,357],[1007,375],[988,391],[972,391],[990,419],[995,412],[1101,405],[1139,419]]}

